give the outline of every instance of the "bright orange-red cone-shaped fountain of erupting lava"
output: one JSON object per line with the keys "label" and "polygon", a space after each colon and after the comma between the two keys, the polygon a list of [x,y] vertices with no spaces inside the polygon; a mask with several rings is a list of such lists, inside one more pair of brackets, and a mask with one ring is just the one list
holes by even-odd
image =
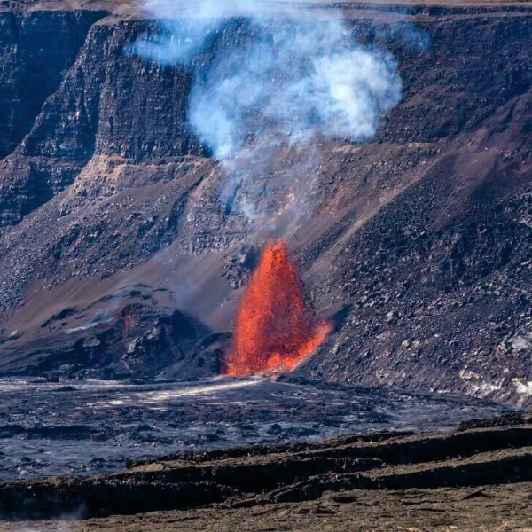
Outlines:
{"label": "bright orange-red cone-shaped fountain of erupting lava", "polygon": [[270,240],[240,301],[226,375],[287,372],[325,340],[332,325],[317,322],[303,298],[286,243]]}

